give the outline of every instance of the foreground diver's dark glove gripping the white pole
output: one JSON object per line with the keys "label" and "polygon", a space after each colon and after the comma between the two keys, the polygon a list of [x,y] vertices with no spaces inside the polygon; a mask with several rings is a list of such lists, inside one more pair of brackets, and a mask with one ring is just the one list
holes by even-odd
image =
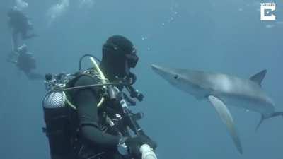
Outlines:
{"label": "foreground diver's dark glove gripping the white pole", "polygon": [[129,154],[134,156],[141,155],[139,148],[144,144],[149,145],[153,149],[157,147],[157,144],[152,141],[149,136],[134,136],[125,140],[125,145],[128,148]]}

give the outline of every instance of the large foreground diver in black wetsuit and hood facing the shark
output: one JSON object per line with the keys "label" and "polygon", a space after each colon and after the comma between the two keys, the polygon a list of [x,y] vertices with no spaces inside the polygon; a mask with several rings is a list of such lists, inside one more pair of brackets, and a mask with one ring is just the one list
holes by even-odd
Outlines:
{"label": "large foreground diver in black wetsuit and hood facing the shark", "polygon": [[[90,57],[93,67],[82,71],[85,57]],[[103,45],[102,60],[95,59],[86,54],[78,72],[45,76],[43,131],[51,158],[155,159],[156,143],[137,123],[142,113],[129,110],[136,104],[134,98],[144,98],[132,86],[137,78],[130,69],[139,60],[134,45],[114,35]]]}

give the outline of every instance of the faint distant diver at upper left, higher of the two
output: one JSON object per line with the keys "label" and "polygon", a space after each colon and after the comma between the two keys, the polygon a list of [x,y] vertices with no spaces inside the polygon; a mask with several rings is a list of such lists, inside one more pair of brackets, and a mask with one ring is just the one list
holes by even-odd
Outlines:
{"label": "faint distant diver at upper left, higher of the two", "polygon": [[8,13],[8,26],[11,28],[12,32],[12,50],[18,48],[18,35],[21,34],[22,40],[30,39],[31,37],[35,37],[37,35],[30,34],[28,35],[28,31],[33,29],[33,25],[28,19],[23,11],[20,8],[14,6],[11,8]]}

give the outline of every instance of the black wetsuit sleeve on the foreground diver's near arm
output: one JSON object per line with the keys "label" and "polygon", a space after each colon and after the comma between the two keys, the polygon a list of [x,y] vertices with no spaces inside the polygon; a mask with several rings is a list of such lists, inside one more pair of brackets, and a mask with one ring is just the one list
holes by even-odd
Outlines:
{"label": "black wetsuit sleeve on the foreground diver's near arm", "polygon": [[[75,86],[85,86],[96,83],[93,78],[89,76],[81,76],[75,83]],[[105,107],[111,108],[112,103],[105,102],[104,108],[98,110],[98,95],[96,90],[91,88],[76,90],[73,94],[75,105],[77,105],[77,114],[79,119],[79,127],[81,130],[81,137],[85,144],[97,153],[105,152],[105,158],[122,158],[117,152],[117,145],[120,140],[117,132],[109,131],[103,132],[101,126],[105,126],[103,121],[103,113],[107,112]],[[114,109],[112,109],[115,111]],[[110,112],[108,111],[108,115]],[[110,130],[111,131],[111,130]],[[100,152],[101,151],[101,152]]]}

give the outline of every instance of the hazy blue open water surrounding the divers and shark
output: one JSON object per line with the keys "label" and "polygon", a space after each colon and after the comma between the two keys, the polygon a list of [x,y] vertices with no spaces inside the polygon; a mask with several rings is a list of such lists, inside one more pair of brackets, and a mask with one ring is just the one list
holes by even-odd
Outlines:
{"label": "hazy blue open water surrounding the divers and shark", "polygon": [[[145,99],[134,110],[141,126],[158,143],[159,159],[283,159],[283,119],[267,119],[257,133],[260,114],[228,105],[238,129],[240,155],[212,105],[173,88],[151,64],[199,69],[249,78],[267,69],[262,88],[283,111],[283,1],[275,21],[260,20],[260,2],[252,0],[26,0],[25,13],[39,36],[25,41],[37,59],[37,72],[73,73],[79,57],[101,57],[103,42],[125,35],[140,57],[136,88]],[[11,33],[0,5],[0,155],[1,159],[48,159],[42,98],[43,81],[29,81],[6,62]],[[61,5],[52,8],[55,4]],[[59,6],[57,5],[57,6]]]}

